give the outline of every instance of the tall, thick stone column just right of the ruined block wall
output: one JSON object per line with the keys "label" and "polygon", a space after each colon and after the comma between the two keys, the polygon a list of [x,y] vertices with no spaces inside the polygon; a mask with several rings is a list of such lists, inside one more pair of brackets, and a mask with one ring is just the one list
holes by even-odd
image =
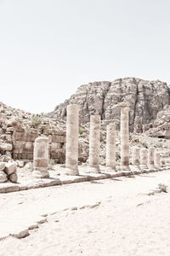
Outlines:
{"label": "tall, thick stone column just right of the ruined block wall", "polygon": [[65,171],[66,175],[79,175],[78,172],[78,136],[79,136],[79,106],[67,106],[66,118],[66,148]]}

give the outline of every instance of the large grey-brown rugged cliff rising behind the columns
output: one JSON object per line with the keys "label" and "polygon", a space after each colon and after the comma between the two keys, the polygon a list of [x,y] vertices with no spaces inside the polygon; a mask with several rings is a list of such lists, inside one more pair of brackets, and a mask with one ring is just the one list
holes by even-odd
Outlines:
{"label": "large grey-brown rugged cliff rising behind the columns", "polygon": [[54,112],[48,113],[48,116],[65,119],[67,105],[76,103],[80,105],[82,123],[89,122],[90,115],[99,114],[106,124],[114,121],[116,128],[119,128],[120,102],[130,104],[130,131],[142,132],[145,125],[154,124],[157,113],[170,104],[169,86],[159,80],[135,78],[84,84],[69,100],[57,106]]}

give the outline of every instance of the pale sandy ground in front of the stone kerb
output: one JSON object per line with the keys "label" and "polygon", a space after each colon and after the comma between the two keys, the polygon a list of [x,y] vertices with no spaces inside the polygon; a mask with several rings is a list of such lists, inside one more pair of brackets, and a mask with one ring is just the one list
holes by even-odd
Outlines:
{"label": "pale sandy ground in front of the stone kerb", "polygon": [[[0,255],[170,255],[170,171],[0,195],[8,231],[48,214],[23,239],[0,241]],[[66,210],[65,210],[66,209]]]}

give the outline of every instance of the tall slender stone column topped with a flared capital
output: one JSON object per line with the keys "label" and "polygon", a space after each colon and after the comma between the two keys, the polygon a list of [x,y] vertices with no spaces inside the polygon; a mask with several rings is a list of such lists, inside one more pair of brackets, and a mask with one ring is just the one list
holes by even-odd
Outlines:
{"label": "tall slender stone column topped with a flared capital", "polygon": [[129,128],[128,111],[129,104],[121,103],[121,170],[129,171]]}

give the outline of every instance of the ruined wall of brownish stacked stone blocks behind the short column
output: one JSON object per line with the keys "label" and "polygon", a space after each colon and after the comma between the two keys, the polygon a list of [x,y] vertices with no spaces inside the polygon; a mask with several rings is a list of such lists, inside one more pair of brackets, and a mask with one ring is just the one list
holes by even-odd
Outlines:
{"label": "ruined wall of brownish stacked stone blocks behind the short column", "polygon": [[[44,129],[42,134],[49,137],[49,159],[55,163],[65,162],[65,131]],[[8,123],[1,129],[0,154],[6,154],[14,160],[33,160],[35,139],[40,131],[23,128],[22,124]]]}

